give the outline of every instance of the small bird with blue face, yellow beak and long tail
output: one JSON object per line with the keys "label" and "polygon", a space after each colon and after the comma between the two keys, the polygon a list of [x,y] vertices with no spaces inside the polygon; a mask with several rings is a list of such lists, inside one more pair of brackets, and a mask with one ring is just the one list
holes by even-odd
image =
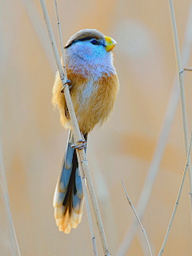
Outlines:
{"label": "small bird with blue face, yellow beak and long tail", "polygon": [[[119,81],[114,68],[113,38],[95,29],[79,30],[72,35],[65,48],[66,73],[70,82],[70,97],[82,134],[86,151],[88,134],[94,126],[101,126],[114,108]],[[55,74],[52,103],[58,107],[60,122],[70,129],[62,171],[54,191],[54,218],[60,231],[70,233],[82,220],[83,190],[75,150],[73,129],[66,99],[61,92],[62,82]]]}

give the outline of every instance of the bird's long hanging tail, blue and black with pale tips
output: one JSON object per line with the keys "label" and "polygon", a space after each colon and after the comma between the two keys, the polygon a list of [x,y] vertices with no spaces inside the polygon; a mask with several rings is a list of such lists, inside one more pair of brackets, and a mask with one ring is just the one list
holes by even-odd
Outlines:
{"label": "bird's long hanging tail, blue and black with pale tips", "polygon": [[[85,136],[87,139],[87,136]],[[66,154],[62,162],[62,173],[54,191],[54,218],[58,229],[66,234],[70,233],[82,221],[83,191],[78,168],[76,150],[71,147],[74,136],[70,131]]]}

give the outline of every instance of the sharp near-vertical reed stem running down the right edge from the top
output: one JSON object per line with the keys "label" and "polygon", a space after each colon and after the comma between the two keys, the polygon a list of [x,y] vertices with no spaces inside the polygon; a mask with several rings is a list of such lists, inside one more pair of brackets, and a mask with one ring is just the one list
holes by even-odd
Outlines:
{"label": "sharp near-vertical reed stem running down the right edge from the top", "polygon": [[[187,116],[186,116],[186,98],[185,98],[185,87],[184,87],[184,79],[183,79],[183,72],[182,71],[182,60],[180,56],[180,50],[179,50],[179,43],[178,43],[178,30],[174,15],[174,4],[172,0],[169,0],[169,6],[170,6],[170,19],[171,19],[171,26],[174,36],[174,51],[176,55],[177,60],[177,68],[178,68],[178,81],[180,86],[180,95],[181,95],[181,103],[182,103],[182,126],[183,126],[183,133],[184,133],[184,139],[185,139],[185,149],[186,149],[186,155],[188,152],[188,146],[189,146],[189,131],[188,131],[188,125],[187,125]],[[189,184],[190,184],[190,192],[192,192],[192,168],[191,168],[191,162],[189,158]],[[192,213],[192,198],[190,197],[190,212]]]}

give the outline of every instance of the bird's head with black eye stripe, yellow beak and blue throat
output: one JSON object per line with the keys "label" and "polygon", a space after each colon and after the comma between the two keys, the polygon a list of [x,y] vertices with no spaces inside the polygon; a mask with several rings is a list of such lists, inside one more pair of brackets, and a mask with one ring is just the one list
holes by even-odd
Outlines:
{"label": "bird's head with black eye stripe, yellow beak and blue throat", "polygon": [[98,30],[86,29],[75,33],[66,43],[66,62],[69,66],[96,68],[97,66],[112,67],[111,50],[117,42]]}

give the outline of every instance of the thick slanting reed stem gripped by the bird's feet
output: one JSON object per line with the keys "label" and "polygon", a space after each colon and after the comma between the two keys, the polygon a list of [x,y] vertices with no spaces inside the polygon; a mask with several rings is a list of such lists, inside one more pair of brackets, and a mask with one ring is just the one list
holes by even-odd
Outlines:
{"label": "thick slanting reed stem gripped by the bird's feet", "polygon": [[[46,3],[44,0],[39,0],[39,2],[42,6],[42,12],[43,12],[43,16],[44,16],[44,19],[46,22],[46,28],[48,30],[50,42],[52,45],[52,49],[54,51],[54,58],[57,63],[57,66],[58,66],[58,72],[59,72],[59,75],[60,75],[60,78],[62,81],[62,86],[64,86],[66,83],[66,78],[63,74],[62,64],[60,62],[59,55],[58,55],[58,49],[57,49],[57,46],[56,46],[56,43],[54,40],[54,33],[53,33],[53,30],[52,30],[52,27],[50,24],[50,18],[49,18],[48,12],[46,10]],[[68,86],[65,86],[64,94],[65,94],[65,98],[66,98],[66,105],[67,105],[69,113],[70,113],[70,121],[71,121],[71,125],[73,127],[74,138],[75,138],[76,142],[78,142],[82,139],[82,135],[81,135],[79,127],[78,127],[78,121],[77,121],[77,118],[74,113],[74,106],[73,106],[73,103],[70,98],[70,91],[69,91]],[[106,256],[110,256],[107,242],[106,242],[106,234],[105,234],[104,227],[102,224],[100,210],[98,208],[98,201],[97,201],[96,194],[94,191],[94,185],[93,185],[92,178],[90,176],[90,169],[88,166],[88,162],[86,160],[85,150],[84,149],[77,150],[77,152],[79,154],[79,158],[81,159],[82,170],[84,171],[84,174],[86,175],[87,186],[88,186],[88,189],[90,192],[90,199],[91,199],[91,202],[92,202],[92,205],[94,208],[94,214],[95,214],[96,222],[98,224],[98,230],[99,230],[99,234],[100,234],[100,238],[101,238],[101,242],[102,242],[102,249]]]}

